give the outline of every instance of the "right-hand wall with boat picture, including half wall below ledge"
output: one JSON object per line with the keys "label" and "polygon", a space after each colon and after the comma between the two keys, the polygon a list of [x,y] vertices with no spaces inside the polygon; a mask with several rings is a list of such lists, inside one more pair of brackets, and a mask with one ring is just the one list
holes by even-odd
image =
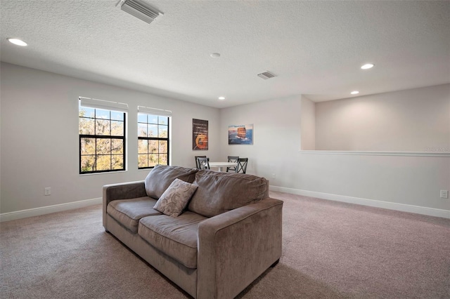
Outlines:
{"label": "right-hand wall with boat picture, including half wall below ledge", "polygon": [[[450,218],[450,200],[439,198],[450,190],[449,157],[302,152],[301,107],[299,96],[221,109],[221,157],[248,157],[248,173],[271,190]],[[250,123],[253,145],[227,145],[229,125]]]}

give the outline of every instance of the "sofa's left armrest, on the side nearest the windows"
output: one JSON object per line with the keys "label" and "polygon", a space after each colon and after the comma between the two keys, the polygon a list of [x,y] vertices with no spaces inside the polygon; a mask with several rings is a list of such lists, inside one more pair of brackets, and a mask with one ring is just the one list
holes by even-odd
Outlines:
{"label": "sofa's left armrest, on the side nearest the windows", "polygon": [[110,184],[103,186],[103,227],[106,228],[106,207],[108,204],[117,199],[134,199],[137,197],[146,197],[145,182],[120,182],[118,184]]}

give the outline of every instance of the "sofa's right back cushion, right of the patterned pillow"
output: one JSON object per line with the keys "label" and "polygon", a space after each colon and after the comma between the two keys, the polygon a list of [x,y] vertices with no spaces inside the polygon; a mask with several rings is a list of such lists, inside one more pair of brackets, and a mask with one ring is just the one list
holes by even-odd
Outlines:
{"label": "sofa's right back cushion, right of the patterned pillow", "polygon": [[269,197],[265,178],[245,173],[201,170],[195,173],[197,191],[188,210],[205,217],[219,215]]}

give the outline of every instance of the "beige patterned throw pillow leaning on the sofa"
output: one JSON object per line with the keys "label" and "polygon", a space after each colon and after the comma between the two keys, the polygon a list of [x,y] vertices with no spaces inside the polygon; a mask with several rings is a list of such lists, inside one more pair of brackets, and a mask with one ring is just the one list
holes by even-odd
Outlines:
{"label": "beige patterned throw pillow leaning on the sofa", "polygon": [[197,187],[176,178],[162,193],[153,208],[171,217],[178,217],[188,205]]}

